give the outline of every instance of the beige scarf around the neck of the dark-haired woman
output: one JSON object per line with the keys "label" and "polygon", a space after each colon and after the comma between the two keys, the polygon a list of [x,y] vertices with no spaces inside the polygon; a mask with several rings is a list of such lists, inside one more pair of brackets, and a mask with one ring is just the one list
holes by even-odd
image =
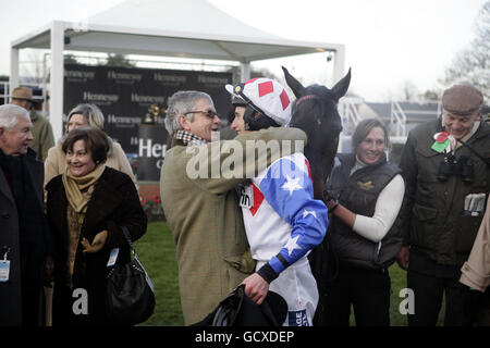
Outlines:
{"label": "beige scarf around the neck of the dark-haired woman", "polygon": [[73,176],[66,167],[62,181],[64,190],[66,191],[66,199],[75,212],[79,213],[86,210],[88,199],[82,192],[99,179],[105,169],[105,164],[99,164],[85,176]]}

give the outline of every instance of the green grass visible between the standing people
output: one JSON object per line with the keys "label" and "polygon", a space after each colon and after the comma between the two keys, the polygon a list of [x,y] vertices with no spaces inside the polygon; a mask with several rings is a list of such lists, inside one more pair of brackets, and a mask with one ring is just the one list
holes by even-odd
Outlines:
{"label": "green grass visible between the standing people", "polygon": [[[135,244],[135,248],[155,285],[156,295],[154,315],[142,325],[184,325],[179,295],[175,246],[167,224],[164,222],[149,223],[146,235]],[[406,326],[406,315],[402,315],[399,311],[400,303],[404,299],[400,297],[400,290],[406,287],[406,273],[395,263],[390,268],[390,322],[392,326]],[[442,325],[443,315],[444,311],[441,310],[438,325]],[[353,315],[351,323],[354,325]]]}

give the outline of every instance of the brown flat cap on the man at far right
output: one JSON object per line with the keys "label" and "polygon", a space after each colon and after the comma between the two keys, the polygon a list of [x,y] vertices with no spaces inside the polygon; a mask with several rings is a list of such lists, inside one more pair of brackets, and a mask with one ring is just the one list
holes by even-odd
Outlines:
{"label": "brown flat cap on the man at far right", "polygon": [[455,115],[470,115],[483,103],[483,95],[473,85],[454,85],[444,90],[442,108]]}

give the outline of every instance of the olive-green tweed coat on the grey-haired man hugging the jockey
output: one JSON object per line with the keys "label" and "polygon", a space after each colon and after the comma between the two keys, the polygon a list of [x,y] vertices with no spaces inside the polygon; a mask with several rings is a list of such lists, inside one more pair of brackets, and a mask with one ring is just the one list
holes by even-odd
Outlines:
{"label": "olive-green tweed coat on the grey-haired man hugging the jockey", "polygon": [[[160,192],[176,245],[181,303],[187,325],[201,321],[254,271],[254,264],[242,263],[248,243],[235,187],[295,150],[277,151],[278,147],[261,151],[255,161],[243,165],[247,163],[243,161],[246,151],[240,153],[238,148],[246,149],[247,140],[274,139],[306,140],[306,135],[296,128],[269,128],[192,148],[174,146],[166,153]],[[230,147],[237,151],[229,151]],[[233,159],[240,160],[231,165]],[[206,172],[223,171],[216,177],[195,177],[193,170],[199,161],[204,161],[200,163]],[[234,167],[236,175],[228,175],[228,167]]]}

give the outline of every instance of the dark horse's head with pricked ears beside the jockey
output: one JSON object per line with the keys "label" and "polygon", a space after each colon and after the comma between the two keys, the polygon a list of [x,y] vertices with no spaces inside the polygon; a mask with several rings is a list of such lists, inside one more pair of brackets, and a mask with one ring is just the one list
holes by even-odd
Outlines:
{"label": "dark horse's head with pricked ears beside the jockey", "polygon": [[351,70],[332,89],[320,85],[303,87],[284,66],[282,70],[287,85],[296,96],[290,125],[305,130],[308,136],[305,156],[311,169],[315,198],[321,199],[323,185],[332,171],[339,147],[339,134],[342,132],[336,107],[339,99],[348,89]]}

